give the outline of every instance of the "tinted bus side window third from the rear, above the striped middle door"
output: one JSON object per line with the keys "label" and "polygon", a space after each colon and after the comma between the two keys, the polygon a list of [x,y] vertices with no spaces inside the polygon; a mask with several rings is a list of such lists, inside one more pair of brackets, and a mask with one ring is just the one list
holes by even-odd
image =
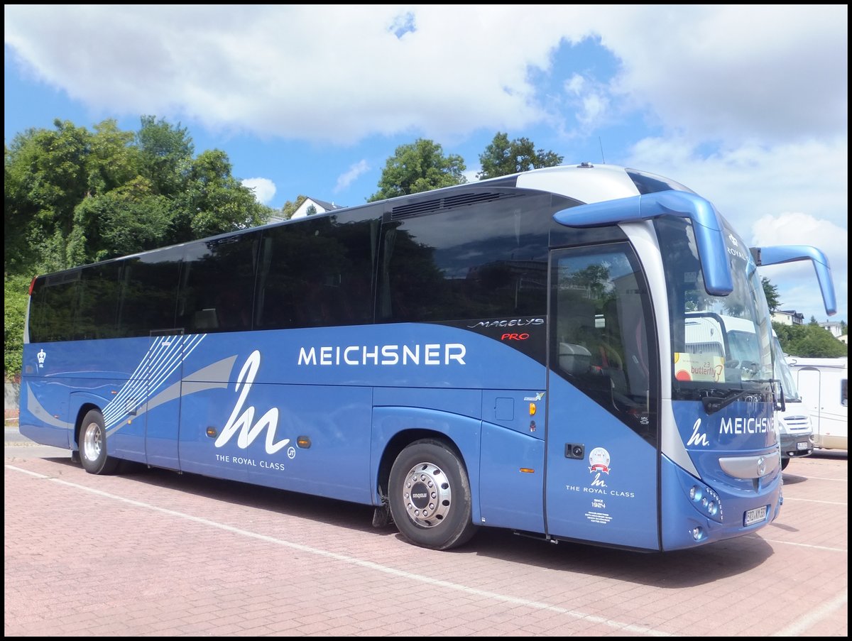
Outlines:
{"label": "tinted bus side window third from the rear, above the striped middle door", "polygon": [[180,248],[124,261],[118,299],[118,335],[150,336],[175,328]]}

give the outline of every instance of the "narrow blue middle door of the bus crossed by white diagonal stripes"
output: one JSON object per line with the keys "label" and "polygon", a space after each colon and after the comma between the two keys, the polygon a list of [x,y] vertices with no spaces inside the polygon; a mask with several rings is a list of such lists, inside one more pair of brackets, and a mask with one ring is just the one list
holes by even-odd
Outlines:
{"label": "narrow blue middle door of the bus crossed by white diagonal stripes", "polygon": [[174,332],[152,332],[146,355],[145,452],[147,465],[179,470],[183,351],[186,339],[192,337]]}

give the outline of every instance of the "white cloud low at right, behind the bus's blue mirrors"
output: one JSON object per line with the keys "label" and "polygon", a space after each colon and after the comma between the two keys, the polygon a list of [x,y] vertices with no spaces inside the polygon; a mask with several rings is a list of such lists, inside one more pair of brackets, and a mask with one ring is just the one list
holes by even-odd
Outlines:
{"label": "white cloud low at right, behind the bus's blue mirrors", "polygon": [[[734,147],[704,157],[682,140],[645,139],[627,165],[676,177],[710,199],[746,242],[757,245],[814,245],[826,253],[838,300],[849,309],[848,173],[845,136],[835,141]],[[826,320],[826,310],[808,262],[760,270],[778,286],[784,309]]]}

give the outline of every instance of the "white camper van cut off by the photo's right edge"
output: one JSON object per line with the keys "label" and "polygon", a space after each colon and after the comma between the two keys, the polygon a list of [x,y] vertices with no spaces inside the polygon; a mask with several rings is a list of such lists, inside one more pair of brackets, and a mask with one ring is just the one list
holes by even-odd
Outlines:
{"label": "white camper van cut off by the photo's right edge", "polygon": [[849,449],[848,359],[800,358],[788,360],[799,394],[808,407],[814,429],[814,447]]}

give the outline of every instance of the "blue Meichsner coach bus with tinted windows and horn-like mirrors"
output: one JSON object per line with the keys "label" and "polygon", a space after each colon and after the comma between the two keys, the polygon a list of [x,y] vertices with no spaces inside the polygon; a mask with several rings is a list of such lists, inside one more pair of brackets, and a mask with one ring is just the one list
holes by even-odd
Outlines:
{"label": "blue Meichsner coach bus with tinted windows and horn-like mirrors", "polygon": [[[661,176],[559,166],[37,276],[20,431],[375,508],[416,546],[478,528],[636,551],[777,517],[772,327],[749,248]],[[696,313],[753,327],[733,361]],[[722,341],[722,344],[728,344]]]}

